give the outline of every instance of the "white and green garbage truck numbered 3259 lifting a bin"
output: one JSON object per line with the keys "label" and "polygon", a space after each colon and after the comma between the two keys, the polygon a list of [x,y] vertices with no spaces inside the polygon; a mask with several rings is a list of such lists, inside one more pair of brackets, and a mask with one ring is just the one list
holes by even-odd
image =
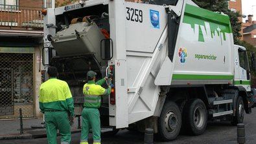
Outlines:
{"label": "white and green garbage truck numbered 3259 lifting a bin", "polygon": [[42,14],[43,65],[57,67],[69,84],[76,116],[86,73],[110,77],[103,87],[114,87],[99,108],[102,129],[150,128],[170,141],[180,132],[203,134],[207,121],[237,125],[251,113],[254,54],[234,45],[222,12],[191,0],[88,0]]}

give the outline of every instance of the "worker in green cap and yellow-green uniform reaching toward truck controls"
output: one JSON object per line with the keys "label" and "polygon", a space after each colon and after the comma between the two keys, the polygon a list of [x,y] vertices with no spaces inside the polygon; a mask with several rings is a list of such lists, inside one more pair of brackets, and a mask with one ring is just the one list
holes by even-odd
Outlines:
{"label": "worker in green cap and yellow-green uniform reaching toward truck controls", "polygon": [[106,82],[108,77],[100,79],[95,83],[96,73],[87,72],[88,83],[84,85],[83,92],[85,96],[84,109],[82,111],[82,132],[80,144],[88,144],[89,129],[93,130],[93,144],[100,144],[100,107],[101,97],[109,95],[111,87],[102,88],[101,85]]}

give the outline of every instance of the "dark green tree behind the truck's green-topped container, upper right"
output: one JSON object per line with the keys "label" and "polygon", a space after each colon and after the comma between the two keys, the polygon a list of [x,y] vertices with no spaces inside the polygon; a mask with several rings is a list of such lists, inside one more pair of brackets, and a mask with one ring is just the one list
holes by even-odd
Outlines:
{"label": "dark green tree behind the truck's green-topped container, upper right", "polygon": [[224,14],[229,15],[230,23],[233,29],[234,42],[239,43],[239,38],[241,34],[241,22],[239,21],[239,17],[241,16],[239,12],[231,12],[228,9],[228,1],[227,0],[192,0],[196,5],[200,6],[200,8],[205,8],[207,10],[211,10],[213,12],[223,12]]}

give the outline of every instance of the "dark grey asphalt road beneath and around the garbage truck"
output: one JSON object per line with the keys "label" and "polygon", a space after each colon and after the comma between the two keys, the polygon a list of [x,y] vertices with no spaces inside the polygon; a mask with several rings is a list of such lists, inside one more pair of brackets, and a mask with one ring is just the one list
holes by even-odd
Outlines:
{"label": "dark grey asphalt road beneath and around the garbage truck", "polygon": [[[246,143],[255,144],[256,143],[256,108],[253,108],[252,114],[246,114],[244,119],[244,124],[246,125]],[[91,136],[90,136],[91,137]],[[79,144],[80,133],[72,135],[72,144]],[[128,130],[121,130],[115,136],[103,137],[103,144],[139,144],[143,143],[144,136],[138,132],[130,132]],[[58,138],[60,141],[60,138]],[[91,139],[89,139],[91,141]],[[45,144],[47,143],[46,138],[40,139],[15,139],[15,140],[0,140],[1,144]],[[207,130],[201,136],[186,136],[181,135],[174,141],[170,142],[160,142],[155,141],[156,144],[233,144],[237,143],[237,127],[233,127],[229,123],[208,123]]]}

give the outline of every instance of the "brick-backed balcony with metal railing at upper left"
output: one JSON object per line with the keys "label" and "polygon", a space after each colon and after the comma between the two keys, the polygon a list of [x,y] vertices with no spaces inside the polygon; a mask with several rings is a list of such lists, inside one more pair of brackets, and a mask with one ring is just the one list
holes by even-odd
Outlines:
{"label": "brick-backed balcony with metal railing at upper left", "polygon": [[43,30],[43,8],[0,5],[0,30]]}

